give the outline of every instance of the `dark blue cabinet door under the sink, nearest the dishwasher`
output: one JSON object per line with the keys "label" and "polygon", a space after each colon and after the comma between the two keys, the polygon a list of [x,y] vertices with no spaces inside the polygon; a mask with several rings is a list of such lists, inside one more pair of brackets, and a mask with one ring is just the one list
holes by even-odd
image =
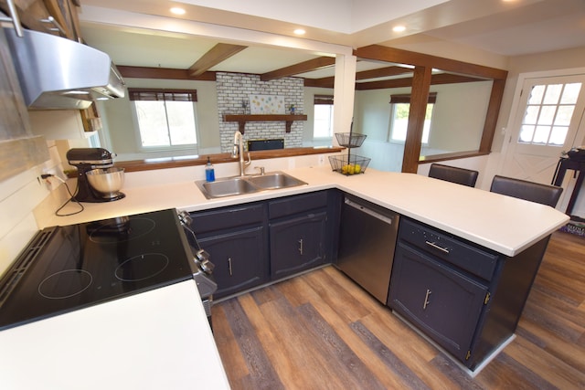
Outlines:
{"label": "dark blue cabinet door under the sink, nearest the dishwasher", "polygon": [[326,221],[323,211],[270,223],[272,279],[324,263]]}

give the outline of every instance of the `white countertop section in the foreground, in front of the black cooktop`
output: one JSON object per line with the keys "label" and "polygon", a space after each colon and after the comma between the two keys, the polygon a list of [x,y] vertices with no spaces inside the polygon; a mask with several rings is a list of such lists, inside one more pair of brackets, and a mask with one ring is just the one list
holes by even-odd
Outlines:
{"label": "white countertop section in the foreground, in front of the black cooktop", "polygon": [[0,332],[5,390],[229,389],[194,280]]}

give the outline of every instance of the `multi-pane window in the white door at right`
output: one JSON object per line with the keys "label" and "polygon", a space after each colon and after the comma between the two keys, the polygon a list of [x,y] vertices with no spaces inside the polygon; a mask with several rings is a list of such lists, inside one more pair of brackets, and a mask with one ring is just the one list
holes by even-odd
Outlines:
{"label": "multi-pane window in the white door at right", "polygon": [[580,89],[580,82],[532,87],[518,142],[563,146]]}

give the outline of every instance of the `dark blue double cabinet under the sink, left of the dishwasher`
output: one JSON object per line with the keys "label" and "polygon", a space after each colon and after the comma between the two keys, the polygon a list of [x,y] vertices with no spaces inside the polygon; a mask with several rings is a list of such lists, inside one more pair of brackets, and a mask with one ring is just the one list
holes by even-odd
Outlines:
{"label": "dark blue double cabinet under the sink, left of the dishwasher", "polygon": [[[330,263],[340,193],[334,190],[190,213],[223,298]],[[192,238],[191,238],[192,239]]]}

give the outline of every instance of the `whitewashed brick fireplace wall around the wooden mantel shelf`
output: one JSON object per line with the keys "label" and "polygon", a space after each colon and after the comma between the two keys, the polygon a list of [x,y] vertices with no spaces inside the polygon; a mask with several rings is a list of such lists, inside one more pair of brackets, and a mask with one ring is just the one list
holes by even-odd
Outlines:
{"label": "whitewashed brick fireplace wall around the wooden mantel shelf", "polygon": [[[297,112],[303,112],[303,79],[282,78],[261,81],[259,75],[218,72],[216,88],[222,153],[231,152],[234,133],[238,131],[238,122],[223,121],[223,115],[244,113],[242,101],[248,103],[246,113],[250,113],[250,95],[283,96],[285,107],[288,108],[294,104]],[[289,113],[288,110],[286,113]],[[250,121],[246,123],[244,144],[248,140],[283,138],[285,148],[302,147],[303,126],[304,121],[293,121],[291,132],[285,132],[284,121]]]}

